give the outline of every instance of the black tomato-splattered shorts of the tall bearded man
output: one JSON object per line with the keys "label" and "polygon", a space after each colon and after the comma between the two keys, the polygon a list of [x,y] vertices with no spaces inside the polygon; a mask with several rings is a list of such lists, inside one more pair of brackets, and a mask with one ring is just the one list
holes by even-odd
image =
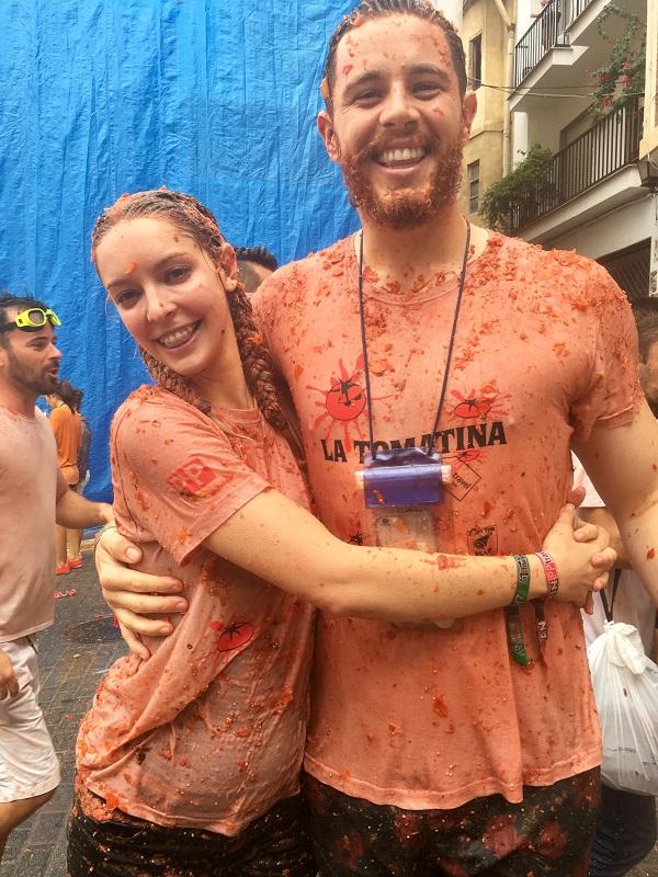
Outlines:
{"label": "black tomato-splattered shorts of the tall bearded man", "polygon": [[306,778],[322,877],[587,877],[599,768],[454,810],[402,810]]}

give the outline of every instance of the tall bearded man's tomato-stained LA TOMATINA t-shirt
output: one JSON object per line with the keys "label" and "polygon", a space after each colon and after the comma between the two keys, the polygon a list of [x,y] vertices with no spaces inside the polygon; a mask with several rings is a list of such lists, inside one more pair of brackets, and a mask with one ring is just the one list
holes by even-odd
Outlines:
{"label": "tall bearded man's tomato-stained LA TOMATINA t-shirt", "polygon": [[[354,472],[368,451],[428,447],[457,298],[453,273],[407,288],[364,273],[366,398],[354,239],[277,271],[254,299],[300,418],[311,490],[337,536],[374,543]],[[629,422],[642,399],[628,305],[572,252],[491,234],[467,267],[436,448],[452,465],[440,550],[537,550],[567,497],[569,443]],[[580,613],[552,602],[545,663],[510,660],[502,611],[449,629],[324,614],[306,768],[376,804],[453,808],[595,766],[600,739]]]}

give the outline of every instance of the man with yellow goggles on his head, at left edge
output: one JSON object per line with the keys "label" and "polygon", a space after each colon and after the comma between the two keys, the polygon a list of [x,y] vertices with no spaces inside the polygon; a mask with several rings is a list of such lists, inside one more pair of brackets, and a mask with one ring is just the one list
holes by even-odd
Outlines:
{"label": "man with yellow goggles on his head, at left edge", "polygon": [[10,831],[59,783],[36,660],[38,633],[53,623],[53,520],[68,527],[113,520],[112,506],[69,490],[53,432],[34,407],[58,386],[60,324],[34,298],[0,295],[0,521],[13,522],[0,527],[0,858]]}

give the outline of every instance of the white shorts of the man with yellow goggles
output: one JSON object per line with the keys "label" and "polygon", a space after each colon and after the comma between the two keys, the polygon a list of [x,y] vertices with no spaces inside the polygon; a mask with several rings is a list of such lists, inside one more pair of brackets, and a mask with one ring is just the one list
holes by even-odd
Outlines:
{"label": "white shorts of the man with yellow goggles", "polygon": [[37,640],[0,643],[19,682],[15,697],[0,701],[0,804],[34,798],[59,784],[59,763],[38,705]]}

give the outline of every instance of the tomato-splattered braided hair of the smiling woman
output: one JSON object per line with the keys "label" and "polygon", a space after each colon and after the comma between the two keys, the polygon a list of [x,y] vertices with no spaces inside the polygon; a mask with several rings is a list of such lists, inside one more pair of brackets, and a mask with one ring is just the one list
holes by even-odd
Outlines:
{"label": "tomato-splattered braided hair of the smiling woman", "polygon": [[[91,234],[92,260],[95,260],[98,246],[111,228],[124,220],[146,216],[171,223],[182,234],[192,238],[209,257],[214,265],[220,265],[229,273],[232,266],[230,259],[232,248],[222,236],[213,213],[192,195],[172,192],[168,189],[122,195],[111,207],[107,207],[98,218]],[[265,420],[274,428],[284,430],[287,424],[279,405],[272,374],[272,356],[263,345],[262,335],[253,319],[251,305],[242,284],[238,283],[235,289],[227,291],[226,297],[247,386]],[[194,405],[204,413],[209,413],[209,402],[200,397],[191,380],[179,375],[145,350],[140,349],[140,353],[157,384]]]}

